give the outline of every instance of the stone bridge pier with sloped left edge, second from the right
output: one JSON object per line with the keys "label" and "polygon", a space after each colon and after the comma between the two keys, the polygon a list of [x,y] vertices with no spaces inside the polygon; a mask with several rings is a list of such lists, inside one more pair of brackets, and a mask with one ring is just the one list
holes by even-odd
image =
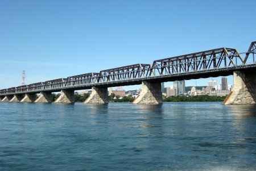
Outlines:
{"label": "stone bridge pier with sloped left edge, second from the right", "polygon": [[162,104],[161,82],[142,81],[141,94],[132,102],[133,104]]}

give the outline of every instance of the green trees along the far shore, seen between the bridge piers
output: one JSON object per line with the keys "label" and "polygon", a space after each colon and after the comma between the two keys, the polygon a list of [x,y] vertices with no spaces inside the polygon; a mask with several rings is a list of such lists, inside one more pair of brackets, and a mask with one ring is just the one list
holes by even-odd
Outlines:
{"label": "green trees along the far shore, seen between the bridge piers", "polygon": [[[89,93],[85,93],[84,95],[75,94],[75,102],[84,102],[86,98],[89,97]],[[59,94],[53,94],[53,101],[55,101]],[[210,95],[194,95],[194,96],[185,96],[185,95],[177,95],[166,97],[163,96],[163,102],[223,102],[226,98],[225,96],[210,96]],[[109,95],[109,102],[133,102],[135,98],[131,96],[123,97],[119,99],[118,95],[114,95],[113,93]]]}

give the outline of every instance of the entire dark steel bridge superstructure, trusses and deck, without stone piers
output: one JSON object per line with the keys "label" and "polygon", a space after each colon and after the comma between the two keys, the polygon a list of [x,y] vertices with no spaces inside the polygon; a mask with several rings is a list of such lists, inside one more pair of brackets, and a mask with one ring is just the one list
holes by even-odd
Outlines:
{"label": "entire dark steel bridge superstructure, trusses and deck, without stone piers", "polygon": [[0,95],[81,90],[90,89],[92,86],[138,85],[142,81],[166,82],[229,76],[236,70],[255,70],[255,54],[256,41],[252,42],[249,50],[244,53],[238,53],[236,49],[232,48],[217,48],[155,60],[152,65],[134,64],[101,70],[98,73],[85,73],[30,85],[10,87],[0,90]]}

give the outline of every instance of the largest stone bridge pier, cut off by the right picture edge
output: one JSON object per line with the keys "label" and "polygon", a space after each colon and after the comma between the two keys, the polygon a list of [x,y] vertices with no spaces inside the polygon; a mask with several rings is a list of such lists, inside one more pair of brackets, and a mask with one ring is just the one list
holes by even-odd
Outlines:
{"label": "largest stone bridge pier, cut off by the right picture edge", "polygon": [[223,102],[224,105],[256,103],[256,74],[252,71],[234,72],[234,87]]}

